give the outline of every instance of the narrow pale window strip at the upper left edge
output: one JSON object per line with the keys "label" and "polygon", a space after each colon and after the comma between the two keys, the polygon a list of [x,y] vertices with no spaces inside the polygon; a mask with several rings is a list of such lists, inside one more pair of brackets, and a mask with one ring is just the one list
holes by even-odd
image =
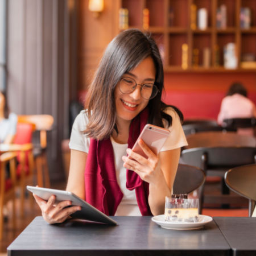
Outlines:
{"label": "narrow pale window strip at the upper left edge", "polygon": [[6,0],[0,0],[0,90],[6,89]]}

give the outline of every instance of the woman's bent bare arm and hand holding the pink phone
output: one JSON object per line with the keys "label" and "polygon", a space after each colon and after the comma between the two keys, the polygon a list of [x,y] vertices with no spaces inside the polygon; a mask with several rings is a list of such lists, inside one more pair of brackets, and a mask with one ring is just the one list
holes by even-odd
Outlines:
{"label": "woman's bent bare arm and hand holding the pink phone", "polygon": [[163,214],[165,197],[171,195],[179,164],[180,148],[163,151],[159,155],[155,155],[142,140],[139,141],[139,145],[148,159],[128,148],[127,153],[131,159],[123,156],[122,159],[125,162],[123,166],[135,171],[142,180],[149,183],[148,204],[151,212],[154,215]]}

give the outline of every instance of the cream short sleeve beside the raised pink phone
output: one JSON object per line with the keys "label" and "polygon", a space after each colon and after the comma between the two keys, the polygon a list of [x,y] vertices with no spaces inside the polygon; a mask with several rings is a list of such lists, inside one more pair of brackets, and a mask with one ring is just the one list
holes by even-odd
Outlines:
{"label": "cream short sleeve beside the raised pink phone", "polygon": [[166,113],[171,115],[172,125],[168,127],[168,130],[170,130],[170,135],[160,151],[174,150],[176,148],[187,146],[187,139],[185,137],[179,115],[172,108],[168,108]]}

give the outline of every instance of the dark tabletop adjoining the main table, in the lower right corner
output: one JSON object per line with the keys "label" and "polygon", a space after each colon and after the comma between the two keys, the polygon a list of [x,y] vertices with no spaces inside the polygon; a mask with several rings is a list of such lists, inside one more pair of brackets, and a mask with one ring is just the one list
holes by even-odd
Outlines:
{"label": "dark tabletop adjoining the main table, in the lower right corner", "polygon": [[233,251],[233,256],[256,255],[256,218],[214,217]]}

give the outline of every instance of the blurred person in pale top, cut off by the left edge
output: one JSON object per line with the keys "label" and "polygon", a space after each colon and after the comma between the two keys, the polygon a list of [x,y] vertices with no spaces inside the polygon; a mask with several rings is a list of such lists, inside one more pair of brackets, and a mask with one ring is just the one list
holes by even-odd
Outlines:
{"label": "blurred person in pale top, cut off by the left edge", "polygon": [[16,134],[17,115],[10,113],[5,92],[0,92],[0,143],[13,143]]}

